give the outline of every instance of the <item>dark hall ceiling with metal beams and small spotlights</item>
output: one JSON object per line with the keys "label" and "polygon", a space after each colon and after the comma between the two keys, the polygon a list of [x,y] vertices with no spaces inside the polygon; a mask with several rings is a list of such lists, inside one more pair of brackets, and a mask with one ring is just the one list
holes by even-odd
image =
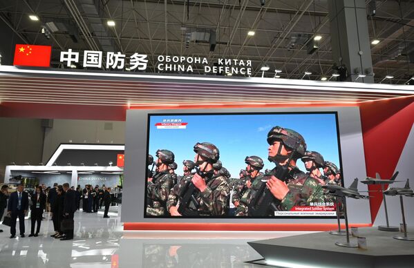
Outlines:
{"label": "dark hall ceiling with metal beams and small spotlights", "polygon": [[[332,74],[330,23],[327,1],[323,0],[18,0],[1,1],[0,22],[6,23],[28,44],[52,45],[52,66],[62,68],[59,52],[73,50],[120,51],[150,55],[149,69],[155,72],[158,55],[250,59],[253,76],[268,64],[265,77],[301,79],[305,71],[319,80]],[[371,0],[367,0],[369,6]],[[189,6],[187,6],[189,3]],[[404,84],[414,75],[408,53],[414,52],[414,1],[375,1],[376,15],[368,17],[375,82]],[[35,14],[40,21],[31,21]],[[115,26],[106,25],[108,20]],[[48,22],[66,30],[41,33]],[[255,35],[247,35],[254,30]],[[186,34],[216,32],[216,48],[208,40],[191,41]],[[305,42],[322,36],[319,50],[308,55]],[[296,39],[296,43],[294,42]],[[203,70],[198,72],[203,74]]]}

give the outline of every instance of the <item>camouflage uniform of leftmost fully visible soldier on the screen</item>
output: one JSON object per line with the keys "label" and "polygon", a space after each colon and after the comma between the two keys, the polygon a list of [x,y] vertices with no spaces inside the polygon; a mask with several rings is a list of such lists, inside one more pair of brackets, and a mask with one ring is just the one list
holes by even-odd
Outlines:
{"label": "camouflage uniform of leftmost fully visible soldier on the screen", "polygon": [[165,202],[173,184],[169,171],[157,172],[153,181],[147,184],[147,215],[164,216]]}

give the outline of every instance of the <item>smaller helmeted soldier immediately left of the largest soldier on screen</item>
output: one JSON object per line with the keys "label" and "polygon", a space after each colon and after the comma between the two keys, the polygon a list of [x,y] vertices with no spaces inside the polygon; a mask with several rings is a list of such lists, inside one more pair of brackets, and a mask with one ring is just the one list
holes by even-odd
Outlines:
{"label": "smaller helmeted soldier immediately left of the largest soldier on screen", "polygon": [[236,207],[236,216],[247,216],[248,206],[252,198],[256,196],[258,189],[260,189],[263,179],[263,160],[256,155],[247,156],[245,158],[247,164],[245,171],[247,171],[247,180],[242,186],[235,186],[232,202]]}

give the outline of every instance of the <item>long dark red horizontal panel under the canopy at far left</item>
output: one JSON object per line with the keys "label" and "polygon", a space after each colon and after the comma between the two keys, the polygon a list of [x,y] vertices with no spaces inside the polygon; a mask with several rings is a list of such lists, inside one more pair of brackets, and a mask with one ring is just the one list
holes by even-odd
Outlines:
{"label": "long dark red horizontal panel under the canopy at far left", "polygon": [[126,106],[1,102],[1,117],[125,121]]}

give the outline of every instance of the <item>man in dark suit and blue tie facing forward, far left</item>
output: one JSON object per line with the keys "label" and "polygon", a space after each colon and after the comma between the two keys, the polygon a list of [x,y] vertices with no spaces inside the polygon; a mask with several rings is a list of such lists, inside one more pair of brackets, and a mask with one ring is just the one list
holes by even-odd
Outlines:
{"label": "man in dark suit and blue tie facing forward, far left", "polygon": [[26,192],[23,192],[23,184],[17,186],[17,191],[10,194],[8,200],[8,214],[11,214],[12,226],[10,227],[10,238],[16,237],[16,222],[17,217],[19,217],[19,229],[20,236],[24,237],[24,214],[28,211],[29,207],[29,195]]}

